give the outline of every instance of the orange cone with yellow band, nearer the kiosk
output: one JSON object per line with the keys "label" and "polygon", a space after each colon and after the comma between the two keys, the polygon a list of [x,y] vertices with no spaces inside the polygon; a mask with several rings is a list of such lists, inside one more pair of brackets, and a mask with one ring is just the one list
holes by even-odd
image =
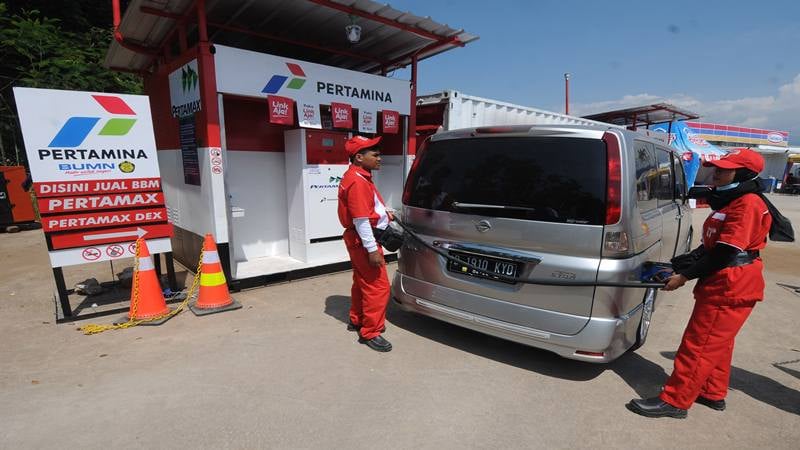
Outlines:
{"label": "orange cone with yellow band, nearer the kiosk", "polygon": [[228,292],[214,237],[206,234],[203,241],[203,262],[200,266],[200,292],[197,294],[197,301],[189,305],[189,309],[197,316],[204,316],[241,307]]}

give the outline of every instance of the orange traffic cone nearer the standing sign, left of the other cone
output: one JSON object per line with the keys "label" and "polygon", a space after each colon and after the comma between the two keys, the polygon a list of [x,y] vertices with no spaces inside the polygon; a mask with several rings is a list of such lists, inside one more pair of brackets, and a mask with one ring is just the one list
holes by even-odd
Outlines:
{"label": "orange traffic cone nearer the standing sign, left of the other cone", "polygon": [[[163,316],[170,312],[167,302],[164,300],[164,293],[161,291],[161,283],[158,281],[156,269],[153,265],[153,257],[150,256],[150,249],[144,239],[137,239],[139,246],[138,266],[133,272],[133,284],[131,286],[131,309],[126,316],[120,320],[127,322],[132,320],[145,320],[141,325],[161,325],[172,316],[166,316],[156,320],[154,317]],[[136,296],[138,295],[138,299]]]}

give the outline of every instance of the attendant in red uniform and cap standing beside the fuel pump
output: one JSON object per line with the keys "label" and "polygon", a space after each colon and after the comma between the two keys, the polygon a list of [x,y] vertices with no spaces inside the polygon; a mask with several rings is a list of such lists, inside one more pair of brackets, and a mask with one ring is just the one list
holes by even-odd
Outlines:
{"label": "attendant in red uniform and cap standing beside the fuel pump", "polygon": [[380,140],[380,137],[355,136],[345,143],[351,164],[339,184],[339,221],[345,228],[344,243],[353,264],[347,329],[358,331],[359,342],[371,349],[388,352],[392,344],[381,333],[386,329],[389,277],[383,250],[372,231],[386,229],[392,219],[372,182],[372,171],[381,167],[380,148],[376,147]]}

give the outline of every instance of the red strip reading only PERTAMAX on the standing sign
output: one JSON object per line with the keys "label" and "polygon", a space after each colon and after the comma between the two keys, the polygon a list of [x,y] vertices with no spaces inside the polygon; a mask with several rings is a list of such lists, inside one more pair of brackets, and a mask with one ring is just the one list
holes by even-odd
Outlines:
{"label": "red strip reading only PERTAMAX on the standing sign", "polygon": [[141,208],[163,205],[164,194],[161,192],[142,192],[139,194],[106,194],[86,197],[51,197],[39,199],[38,203],[39,212],[42,214]]}

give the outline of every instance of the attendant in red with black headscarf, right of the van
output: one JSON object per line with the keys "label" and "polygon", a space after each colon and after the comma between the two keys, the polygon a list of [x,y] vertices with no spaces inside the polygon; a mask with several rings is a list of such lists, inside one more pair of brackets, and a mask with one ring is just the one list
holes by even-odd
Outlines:
{"label": "attendant in red with black headscarf, right of the van", "polygon": [[689,262],[673,264],[676,275],[664,287],[672,291],[697,278],[694,310],[661,395],[627,405],[647,417],[683,418],[695,402],[725,409],[734,339],[764,298],[759,250],[766,246],[772,223],[758,195],[764,159],[752,150],[735,149],[704,165],[715,166],[715,188],[708,198],[713,211],[703,224],[702,245],[679,257]]}

